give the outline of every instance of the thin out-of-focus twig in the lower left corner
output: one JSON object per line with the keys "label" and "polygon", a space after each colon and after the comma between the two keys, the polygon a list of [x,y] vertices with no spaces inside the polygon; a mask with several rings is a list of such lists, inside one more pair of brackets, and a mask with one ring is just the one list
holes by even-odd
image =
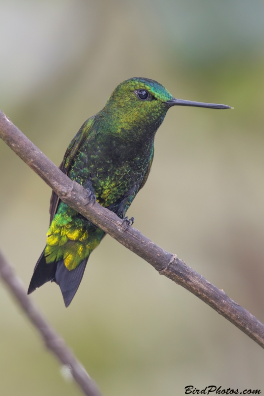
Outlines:
{"label": "thin out-of-focus twig in the lower left corner", "polygon": [[73,378],[87,396],[100,396],[101,393],[89,377],[81,363],[76,359],[73,352],[66,346],[64,340],[48,323],[40,312],[40,308],[33,303],[24,288],[23,282],[14,273],[0,251],[0,276],[7,285],[12,296],[14,296],[26,313],[30,321],[41,334],[46,347],[49,348],[57,359],[70,370]]}

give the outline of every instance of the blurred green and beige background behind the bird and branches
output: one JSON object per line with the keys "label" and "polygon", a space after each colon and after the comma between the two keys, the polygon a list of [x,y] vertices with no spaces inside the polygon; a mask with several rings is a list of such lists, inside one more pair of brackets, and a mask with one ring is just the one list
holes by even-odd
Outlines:
{"label": "blurred green and beige background behind the bird and branches", "polygon": [[[56,165],[115,86],[149,77],[180,99],[129,209],[135,227],[264,321],[263,0],[1,0],[0,108]],[[0,141],[0,247],[26,287],[51,189]],[[32,298],[105,396],[262,389],[264,352],[109,236],[69,308]],[[0,395],[81,395],[0,284]]]}

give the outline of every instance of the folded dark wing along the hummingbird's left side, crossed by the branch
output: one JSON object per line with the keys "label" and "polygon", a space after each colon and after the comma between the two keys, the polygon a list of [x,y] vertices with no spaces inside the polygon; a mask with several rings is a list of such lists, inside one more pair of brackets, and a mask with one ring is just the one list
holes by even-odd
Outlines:
{"label": "folded dark wing along the hummingbird's left side, crossed by the branch", "polygon": [[[69,144],[69,147],[67,148],[63,160],[61,164],[59,165],[59,169],[65,173],[66,175],[68,174],[70,167],[72,165],[72,162],[74,160],[74,157],[79,150],[79,148],[82,146],[83,142],[85,139],[87,139],[91,127],[94,123],[94,117],[89,118],[85,123],[81,126],[77,134],[74,136],[72,139],[71,143]],[[50,202],[50,215],[51,219],[50,222],[53,221],[53,217],[57,211],[57,207],[59,204],[59,197],[57,194],[53,191],[52,192],[52,197],[51,197],[51,202]]]}

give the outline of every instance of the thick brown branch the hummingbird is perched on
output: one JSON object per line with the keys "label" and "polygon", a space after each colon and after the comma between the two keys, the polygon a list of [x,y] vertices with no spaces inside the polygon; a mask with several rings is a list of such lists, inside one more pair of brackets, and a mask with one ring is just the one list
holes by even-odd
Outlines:
{"label": "thick brown branch the hummingbird is perched on", "polygon": [[245,308],[217,289],[175,254],[169,253],[137,229],[125,231],[122,220],[99,203],[88,202],[87,191],[70,180],[0,111],[0,137],[60,197],[107,234],[148,261],[159,274],[165,275],[210,305],[264,348],[264,325]]}

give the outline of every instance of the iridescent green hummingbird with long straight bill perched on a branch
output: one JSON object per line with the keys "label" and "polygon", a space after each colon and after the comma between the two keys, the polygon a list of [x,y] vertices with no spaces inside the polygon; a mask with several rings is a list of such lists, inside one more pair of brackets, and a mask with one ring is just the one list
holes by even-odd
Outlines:
{"label": "iridescent green hummingbird with long straight bill perched on a branch", "polygon": [[[113,91],[103,110],[88,118],[66,150],[59,168],[71,180],[112,210],[126,227],[126,211],[145,185],[154,155],[154,138],[172,106],[224,109],[224,104],[175,99],[157,81],[130,78]],[[91,252],[105,232],[62,202],[53,192],[47,245],[29,285],[28,294],[44,283],[59,285],[68,306],[74,297]]]}

